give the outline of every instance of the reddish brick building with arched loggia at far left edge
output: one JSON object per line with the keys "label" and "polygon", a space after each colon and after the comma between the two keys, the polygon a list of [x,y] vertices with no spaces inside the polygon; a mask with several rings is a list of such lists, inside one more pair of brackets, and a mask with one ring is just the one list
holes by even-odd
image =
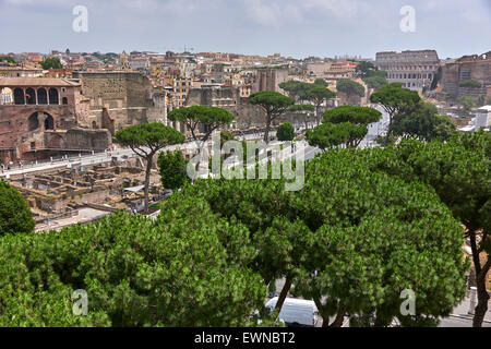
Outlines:
{"label": "reddish brick building with arched loggia at far left edge", "polygon": [[44,159],[71,152],[104,151],[105,130],[79,123],[80,84],[64,79],[0,79],[0,163]]}

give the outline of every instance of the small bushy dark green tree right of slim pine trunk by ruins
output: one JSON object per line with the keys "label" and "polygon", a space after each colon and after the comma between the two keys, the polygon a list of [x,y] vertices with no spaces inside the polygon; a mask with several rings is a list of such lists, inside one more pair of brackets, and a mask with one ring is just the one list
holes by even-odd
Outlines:
{"label": "small bushy dark green tree right of slim pine trunk by ruins", "polygon": [[161,152],[158,155],[157,165],[165,189],[176,191],[191,181],[185,171],[188,163],[189,160],[184,159],[181,151]]}

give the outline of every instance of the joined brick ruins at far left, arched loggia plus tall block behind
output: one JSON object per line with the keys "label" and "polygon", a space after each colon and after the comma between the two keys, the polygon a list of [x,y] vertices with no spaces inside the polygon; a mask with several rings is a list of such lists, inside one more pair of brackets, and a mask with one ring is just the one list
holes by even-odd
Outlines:
{"label": "joined brick ruins at far left, arched loggia plus tall block behind", "polygon": [[73,79],[0,79],[0,164],[92,153],[118,130],[167,123],[166,92],[128,72],[73,72]]}

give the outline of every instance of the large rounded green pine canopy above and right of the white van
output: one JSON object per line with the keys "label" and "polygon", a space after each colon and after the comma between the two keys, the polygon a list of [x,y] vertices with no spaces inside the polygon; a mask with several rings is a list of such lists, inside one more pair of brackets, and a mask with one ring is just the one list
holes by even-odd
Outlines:
{"label": "large rounded green pine canopy above and right of the white van", "polygon": [[[308,163],[300,192],[285,192],[282,181],[199,180],[171,201],[204,197],[243,222],[265,284],[285,277],[324,318],[376,312],[366,325],[434,325],[465,294],[464,231],[433,190],[372,166],[390,159],[385,152],[327,152]],[[406,288],[418,296],[417,315],[402,318]]]}

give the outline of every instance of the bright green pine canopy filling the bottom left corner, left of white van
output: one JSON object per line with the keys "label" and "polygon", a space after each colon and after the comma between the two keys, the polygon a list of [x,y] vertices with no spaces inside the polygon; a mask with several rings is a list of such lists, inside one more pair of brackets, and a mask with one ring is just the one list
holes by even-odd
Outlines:
{"label": "bright green pine canopy filling the bottom left corner, left of white van", "polygon": [[[61,232],[2,238],[0,325],[247,325],[266,292],[244,266],[254,256],[242,246],[247,238],[243,225],[191,197],[155,222],[116,214]],[[87,291],[87,316],[72,314],[76,289]]]}

